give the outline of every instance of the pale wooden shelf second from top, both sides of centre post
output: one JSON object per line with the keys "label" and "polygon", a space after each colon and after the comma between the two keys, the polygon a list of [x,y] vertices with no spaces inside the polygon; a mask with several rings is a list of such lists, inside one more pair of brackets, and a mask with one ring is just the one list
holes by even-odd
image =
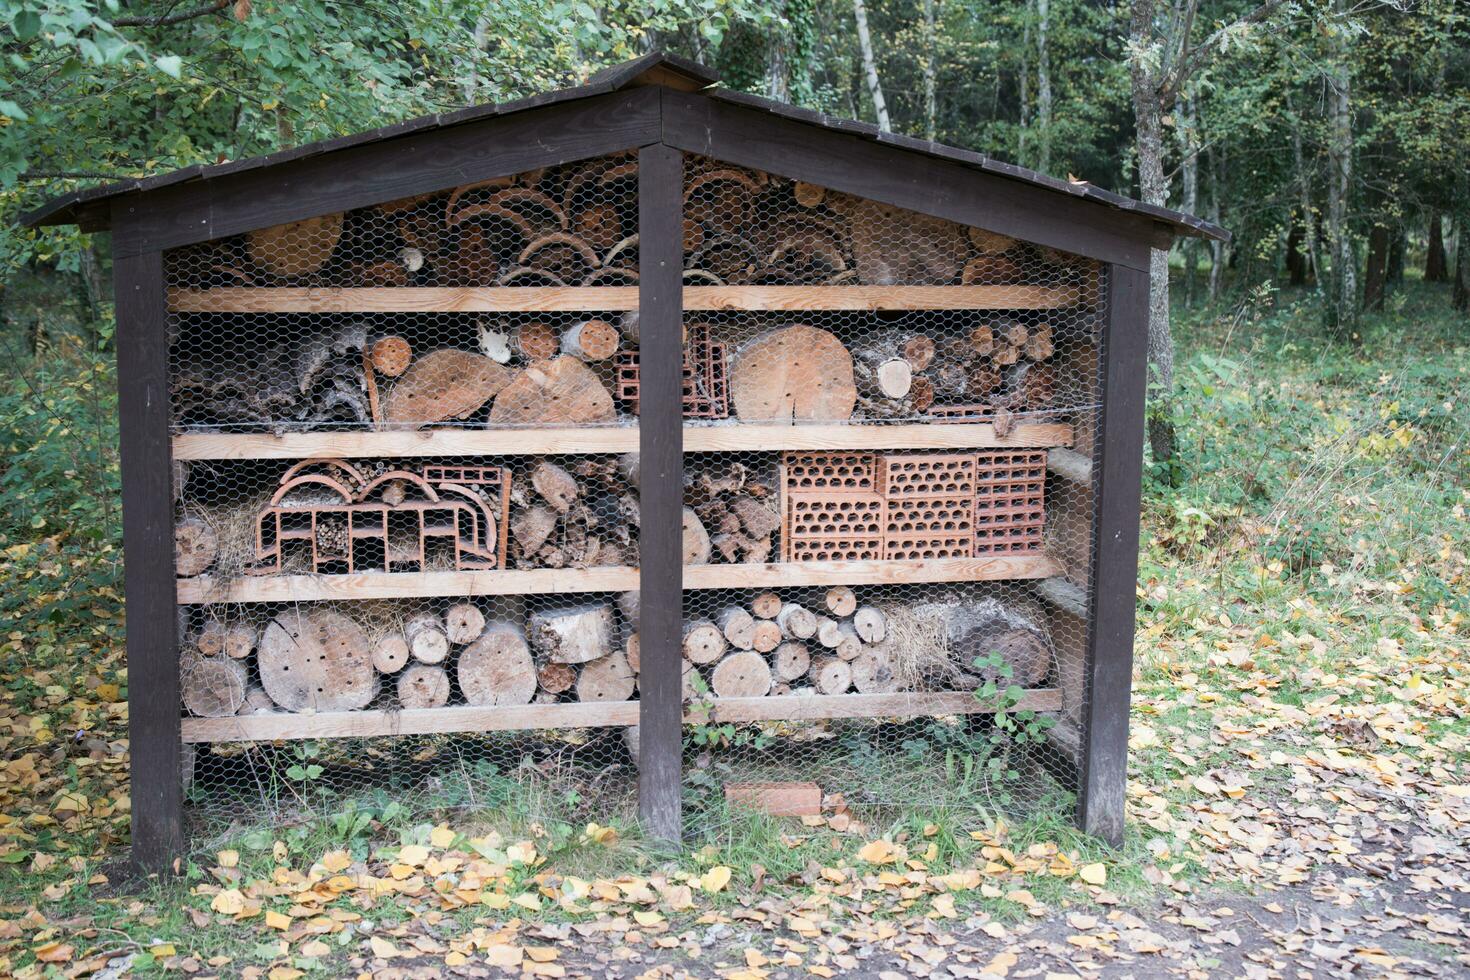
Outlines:
{"label": "pale wooden shelf second from top, both sides of centre post", "polygon": [[[1003,438],[988,422],[935,425],[686,425],[685,453],[770,450],[985,450],[1064,447],[1072,426],[1022,423]],[[415,432],[185,432],[176,460],[307,460],[315,457],[542,455],[637,453],[637,426],[567,429],[429,429]]]}

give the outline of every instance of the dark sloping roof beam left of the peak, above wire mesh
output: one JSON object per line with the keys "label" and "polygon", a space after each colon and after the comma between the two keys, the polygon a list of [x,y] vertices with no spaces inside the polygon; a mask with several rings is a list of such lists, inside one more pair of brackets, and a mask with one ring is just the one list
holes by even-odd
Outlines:
{"label": "dark sloping roof beam left of the peak, above wire mesh", "polygon": [[626,150],[657,137],[659,90],[632,88],[541,112],[366,143],[244,170],[228,179],[176,184],[119,198],[113,254],[172,248],[441,191]]}

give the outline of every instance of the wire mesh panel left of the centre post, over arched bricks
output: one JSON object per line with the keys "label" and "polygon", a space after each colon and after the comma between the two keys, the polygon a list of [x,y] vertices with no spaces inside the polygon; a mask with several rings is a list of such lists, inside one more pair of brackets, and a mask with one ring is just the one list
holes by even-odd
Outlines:
{"label": "wire mesh panel left of the centre post, over arched bricks", "polygon": [[528,782],[632,813],[637,455],[454,436],[635,422],[637,178],[614,154],[169,253],[197,815]]}

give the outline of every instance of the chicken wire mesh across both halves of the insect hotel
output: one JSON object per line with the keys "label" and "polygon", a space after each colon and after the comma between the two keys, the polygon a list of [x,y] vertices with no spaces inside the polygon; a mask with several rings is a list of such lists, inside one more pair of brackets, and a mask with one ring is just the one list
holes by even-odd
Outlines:
{"label": "chicken wire mesh across both halves of the insect hotel", "polygon": [[[637,160],[614,154],[173,250],[173,429],[632,426],[637,231]],[[700,157],[684,251],[686,426],[916,433],[685,455],[685,564],[745,566],[684,594],[694,813],[791,780],[835,808],[1064,804],[1104,269]],[[442,311],[453,297],[406,287],[606,291]],[[976,422],[994,444],[925,448],[920,425]],[[526,782],[631,815],[638,594],[614,588],[637,585],[635,454],[187,460],[175,498],[201,818],[495,805]],[[628,574],[378,585],[589,569]],[[435,595],[379,598],[415,591]]]}

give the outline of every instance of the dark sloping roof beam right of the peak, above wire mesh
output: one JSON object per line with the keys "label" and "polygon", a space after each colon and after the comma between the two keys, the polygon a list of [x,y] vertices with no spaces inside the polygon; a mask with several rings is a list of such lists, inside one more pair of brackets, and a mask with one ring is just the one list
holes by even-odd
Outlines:
{"label": "dark sloping roof beam right of the peak, above wire mesh", "polygon": [[897,207],[1148,269],[1154,219],[1047,187],[731,104],[663,93],[664,140],[686,153],[757,167]]}

